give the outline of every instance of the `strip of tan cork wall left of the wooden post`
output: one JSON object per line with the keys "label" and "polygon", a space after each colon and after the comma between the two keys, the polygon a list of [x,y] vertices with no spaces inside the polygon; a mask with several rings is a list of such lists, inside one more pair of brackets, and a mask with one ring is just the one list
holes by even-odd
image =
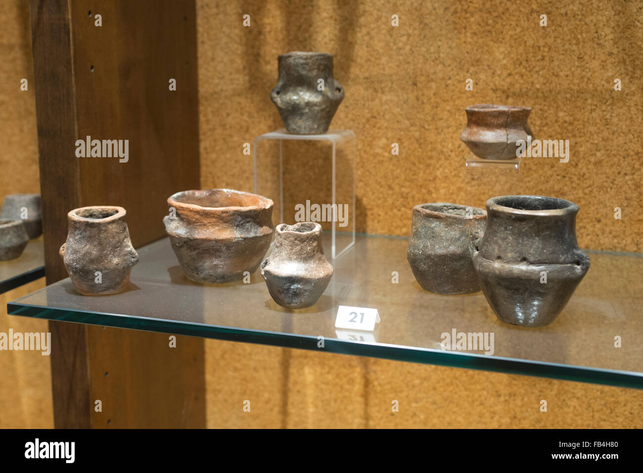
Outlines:
{"label": "strip of tan cork wall left of the wooden post", "polygon": [[[5,195],[39,193],[29,4],[3,2],[0,13],[0,205]],[[21,80],[27,79],[27,90]],[[0,332],[47,332],[46,320],[10,317],[6,303],[44,287],[44,278],[0,294]],[[0,352],[0,428],[53,427],[51,371],[40,352]]]}

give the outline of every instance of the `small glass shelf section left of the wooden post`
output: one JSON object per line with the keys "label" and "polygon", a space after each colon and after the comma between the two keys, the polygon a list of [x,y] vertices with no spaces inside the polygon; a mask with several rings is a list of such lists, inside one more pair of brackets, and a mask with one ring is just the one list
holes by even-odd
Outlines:
{"label": "small glass shelf section left of the wooden post", "polygon": [[30,240],[18,258],[0,261],[0,294],[44,276],[42,235]]}

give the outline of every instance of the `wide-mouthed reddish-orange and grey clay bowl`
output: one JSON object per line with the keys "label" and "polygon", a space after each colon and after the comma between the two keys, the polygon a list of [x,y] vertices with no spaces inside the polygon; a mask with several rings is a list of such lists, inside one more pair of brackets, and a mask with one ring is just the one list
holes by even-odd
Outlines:
{"label": "wide-mouthed reddish-orange and grey clay bowl", "polygon": [[211,189],[179,192],[167,203],[165,230],[190,280],[226,283],[257,271],[273,235],[273,201],[238,190]]}

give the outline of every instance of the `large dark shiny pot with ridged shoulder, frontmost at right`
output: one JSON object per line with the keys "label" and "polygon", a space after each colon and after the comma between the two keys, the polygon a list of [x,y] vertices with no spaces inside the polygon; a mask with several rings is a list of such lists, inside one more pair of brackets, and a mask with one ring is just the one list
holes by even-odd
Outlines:
{"label": "large dark shiny pot with ridged shoulder, frontmost at right", "polygon": [[487,201],[487,228],[473,263],[498,319],[539,327],[563,310],[590,267],[576,242],[578,210],[539,195]]}

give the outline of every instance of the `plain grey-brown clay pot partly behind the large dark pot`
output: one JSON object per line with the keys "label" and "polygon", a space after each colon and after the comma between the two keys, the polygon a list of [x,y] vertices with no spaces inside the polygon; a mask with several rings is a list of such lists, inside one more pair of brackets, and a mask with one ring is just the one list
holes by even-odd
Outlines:
{"label": "plain grey-brown clay pot partly behind the large dark pot", "polygon": [[422,289],[435,294],[480,290],[472,258],[486,217],[482,209],[447,202],[413,207],[406,259]]}

